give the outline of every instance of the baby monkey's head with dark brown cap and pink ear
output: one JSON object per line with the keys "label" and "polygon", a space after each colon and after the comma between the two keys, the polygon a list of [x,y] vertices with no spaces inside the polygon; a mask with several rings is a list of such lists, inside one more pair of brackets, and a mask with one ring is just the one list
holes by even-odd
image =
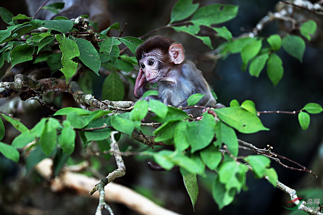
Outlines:
{"label": "baby monkey's head with dark brown cap and pink ear", "polygon": [[166,77],[174,64],[182,63],[185,56],[181,44],[158,35],[148,38],[137,48],[136,58],[147,81],[156,83]]}

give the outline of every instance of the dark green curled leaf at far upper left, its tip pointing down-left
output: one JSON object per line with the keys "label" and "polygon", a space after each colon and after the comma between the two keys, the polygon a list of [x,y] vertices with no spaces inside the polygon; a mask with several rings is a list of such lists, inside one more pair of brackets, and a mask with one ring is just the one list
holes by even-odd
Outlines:
{"label": "dark green curled leaf at far upper left, its tip pointing down-left", "polygon": [[16,64],[32,60],[34,50],[35,50],[35,47],[32,46],[31,44],[17,45],[15,48],[13,48],[11,52],[12,67]]}

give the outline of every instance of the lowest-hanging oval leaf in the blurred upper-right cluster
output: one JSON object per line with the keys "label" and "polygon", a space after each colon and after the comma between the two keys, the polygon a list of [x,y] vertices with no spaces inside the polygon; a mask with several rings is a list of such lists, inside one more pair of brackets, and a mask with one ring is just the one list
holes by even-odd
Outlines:
{"label": "lowest-hanging oval leaf in the blurred upper-right cluster", "polygon": [[284,67],[282,59],[275,53],[271,54],[267,62],[267,74],[270,81],[276,86],[283,78]]}

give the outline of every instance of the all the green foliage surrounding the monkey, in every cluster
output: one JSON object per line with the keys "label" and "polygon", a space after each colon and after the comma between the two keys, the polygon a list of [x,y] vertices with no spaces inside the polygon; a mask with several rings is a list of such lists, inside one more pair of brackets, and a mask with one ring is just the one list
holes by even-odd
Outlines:
{"label": "all the green foliage surrounding the monkey, in every cluster", "polygon": [[[288,54],[302,62],[306,46],[301,36],[287,34],[282,37],[273,34],[267,38],[233,39],[231,32],[225,26],[212,27],[211,25],[234,19],[238,6],[213,4],[199,7],[198,3],[192,2],[192,0],[179,0],[174,5],[169,27],[177,32],[190,34],[214,49],[210,37],[199,34],[203,27],[212,29],[217,36],[224,38],[224,42],[217,47],[220,54],[223,57],[229,54],[240,54],[242,70],[249,68],[250,75],[258,77],[267,65],[268,77],[276,86],[284,74],[283,61],[277,54],[282,47]],[[51,6],[55,9],[55,5]],[[58,6],[61,7],[61,5]],[[51,10],[54,9],[51,8]],[[46,61],[52,73],[60,71],[65,76],[66,82],[77,73],[80,64],[97,75],[99,75],[99,69],[104,68],[110,71],[110,74],[103,83],[103,99],[110,101],[123,99],[125,91],[120,76],[133,71],[137,60],[134,56],[123,54],[119,45],[124,44],[134,54],[143,41],[130,36],[108,37],[109,30],[120,31],[119,23],[111,25],[101,33],[96,33],[97,40],[93,42],[91,39],[79,38],[78,29],[73,25],[75,23],[65,17],[35,20],[25,15],[14,16],[4,8],[1,13],[2,19],[9,26],[6,30],[0,31],[0,43],[3,44],[0,49],[0,62],[2,62],[0,66],[4,61],[11,63],[12,66],[31,60]],[[25,20],[25,22],[18,24],[17,20]],[[182,26],[172,25],[180,21],[183,22]],[[45,27],[48,31],[28,34],[31,30],[40,27]],[[301,26],[300,33],[310,40],[315,30],[316,23],[309,20]],[[87,32],[87,34],[92,33]],[[24,39],[19,39],[23,35],[25,35]],[[53,51],[56,44],[59,44],[59,53]],[[157,93],[148,91],[143,98]],[[188,105],[195,105],[202,97],[201,94],[192,95],[188,99]],[[251,166],[256,178],[268,176],[269,182],[276,186],[277,174],[270,167],[270,159],[262,155],[238,157],[239,148],[235,130],[246,134],[269,130],[260,121],[255,103],[249,100],[241,105],[237,100],[233,100],[230,107],[214,110],[219,118],[217,122],[214,120],[214,115],[209,112],[203,113],[202,119],[192,119],[183,110],[165,106],[156,100],[138,101],[130,112],[123,113],[113,109],[91,112],[80,108],[63,108],[53,117],[43,118],[32,129],[27,129],[18,119],[2,113],[3,120],[11,123],[21,134],[11,145],[0,142],[0,152],[10,160],[18,162],[18,149],[25,151],[35,149],[29,155],[29,158],[35,159],[31,162],[27,158],[29,170],[37,161],[53,156],[57,150],[62,150],[63,153],[60,155],[62,159],[70,155],[74,151],[77,132],[84,146],[95,141],[109,140],[112,131],[131,136],[134,129],[141,130],[141,122],[148,112],[155,113],[152,119],[161,124],[154,131],[155,142],[161,141],[167,145],[173,145],[174,150],[144,151],[142,155],[152,156],[167,170],[180,166],[193,207],[198,195],[196,175],[205,176],[206,167],[217,173],[212,184],[212,195],[220,209],[229,205],[242,189],[247,189],[246,172],[249,169],[244,163]],[[309,114],[320,112],[322,107],[316,103],[305,105],[298,113],[301,127],[306,130],[310,123]],[[66,119],[59,121],[54,118],[61,115],[66,116]],[[0,120],[0,140],[4,135],[5,127]],[[223,148],[226,151],[224,154],[219,151]]]}

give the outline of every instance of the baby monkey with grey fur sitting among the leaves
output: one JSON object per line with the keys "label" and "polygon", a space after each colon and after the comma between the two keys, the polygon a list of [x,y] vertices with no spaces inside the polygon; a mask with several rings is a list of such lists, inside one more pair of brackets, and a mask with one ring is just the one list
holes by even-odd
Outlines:
{"label": "baby monkey with grey fur sitting among the leaves", "polygon": [[[196,105],[225,107],[216,103],[202,72],[185,58],[183,46],[174,40],[159,35],[150,37],[137,48],[136,58],[140,66],[134,89],[136,97],[142,97],[149,82],[157,83],[158,96],[148,96],[146,100],[155,99],[166,105],[187,107],[187,99],[201,93],[205,96]],[[192,108],[184,111],[198,117],[202,110]]]}

